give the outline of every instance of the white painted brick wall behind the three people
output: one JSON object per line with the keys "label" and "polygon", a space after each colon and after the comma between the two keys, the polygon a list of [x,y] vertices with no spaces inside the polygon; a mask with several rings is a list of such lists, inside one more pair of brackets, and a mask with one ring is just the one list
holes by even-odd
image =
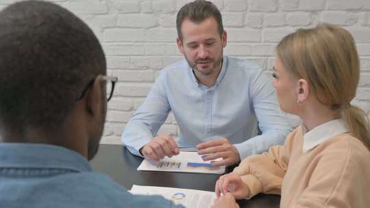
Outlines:
{"label": "white painted brick wall behind the three people", "polygon": [[[0,0],[0,9],[16,0]],[[190,0],[53,0],[77,14],[97,34],[108,74],[119,77],[108,104],[102,142],[120,144],[123,127],[143,103],[158,71],[182,58],[176,12]],[[370,0],[212,0],[228,32],[226,55],[269,69],[279,40],[299,27],[341,25],[356,39],[361,79],[355,103],[370,113]],[[177,135],[170,114],[162,133]]]}

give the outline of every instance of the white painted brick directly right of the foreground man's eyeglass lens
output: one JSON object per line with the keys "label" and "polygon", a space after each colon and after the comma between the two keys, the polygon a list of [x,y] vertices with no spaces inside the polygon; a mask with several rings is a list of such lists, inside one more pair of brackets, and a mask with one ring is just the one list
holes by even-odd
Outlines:
{"label": "white painted brick directly right of the foreground man's eyeglass lens", "polygon": [[[147,96],[151,83],[118,83],[117,95],[119,96]],[[116,90],[114,90],[115,92]]]}

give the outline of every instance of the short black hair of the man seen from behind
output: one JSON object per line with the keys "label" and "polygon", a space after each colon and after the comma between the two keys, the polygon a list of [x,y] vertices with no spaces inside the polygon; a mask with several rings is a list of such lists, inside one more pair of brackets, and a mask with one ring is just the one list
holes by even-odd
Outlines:
{"label": "short black hair of the man seen from behind", "polygon": [[106,57],[93,31],[60,5],[22,1],[0,12],[0,122],[58,129]]}

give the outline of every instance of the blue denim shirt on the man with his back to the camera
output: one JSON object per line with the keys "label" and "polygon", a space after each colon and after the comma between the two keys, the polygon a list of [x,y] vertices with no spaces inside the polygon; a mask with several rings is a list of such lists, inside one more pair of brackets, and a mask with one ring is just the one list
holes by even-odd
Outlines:
{"label": "blue denim shirt on the man with his back to the camera", "polygon": [[92,172],[75,151],[47,144],[1,143],[0,207],[182,206],[160,196],[133,196],[108,176]]}

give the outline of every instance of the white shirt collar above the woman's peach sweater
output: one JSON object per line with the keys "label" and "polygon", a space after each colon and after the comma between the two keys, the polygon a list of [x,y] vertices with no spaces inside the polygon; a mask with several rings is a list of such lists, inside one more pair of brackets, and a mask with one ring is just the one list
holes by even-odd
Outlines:
{"label": "white shirt collar above the woman's peach sweater", "polygon": [[314,129],[308,132],[303,125],[302,129],[304,131],[304,153],[325,142],[325,140],[334,137],[335,135],[349,132],[345,121],[342,119],[330,120],[329,122],[325,122],[322,125],[314,127]]}

